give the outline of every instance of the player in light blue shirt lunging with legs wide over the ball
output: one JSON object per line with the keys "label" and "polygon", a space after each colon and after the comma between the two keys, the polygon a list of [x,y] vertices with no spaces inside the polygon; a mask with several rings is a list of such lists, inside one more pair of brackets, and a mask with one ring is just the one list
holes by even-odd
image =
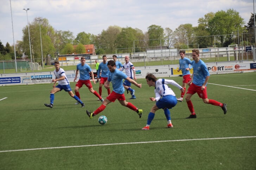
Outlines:
{"label": "player in light blue shirt lunging with legs wide over the ball", "polygon": [[109,103],[115,102],[115,100],[117,99],[119,103],[122,104],[122,106],[128,107],[129,109],[136,111],[136,113],[141,118],[143,110],[138,109],[132,103],[127,102],[125,100],[125,96],[123,94],[124,93],[123,79],[129,81],[130,83],[133,83],[135,86],[139,88],[141,88],[141,84],[136,83],[136,81],[130,79],[129,77],[127,77],[126,74],[118,70],[116,68],[115,61],[113,60],[108,61],[108,68],[110,73],[109,73],[108,80],[104,84],[104,87],[106,89],[109,89],[110,88],[109,84],[110,82],[112,82],[113,91],[107,98],[105,98],[102,105],[98,107],[94,112],[90,112],[86,110],[87,115],[90,118],[92,118],[93,116],[101,113]]}

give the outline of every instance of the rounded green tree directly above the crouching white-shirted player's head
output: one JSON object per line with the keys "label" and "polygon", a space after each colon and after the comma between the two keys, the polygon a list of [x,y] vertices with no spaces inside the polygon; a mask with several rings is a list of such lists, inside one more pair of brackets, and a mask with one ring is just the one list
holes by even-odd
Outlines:
{"label": "rounded green tree directly above the crouching white-shirted player's head", "polygon": [[164,39],[164,28],[158,25],[151,25],[148,27],[148,38],[150,47],[158,47],[161,42],[159,39]]}

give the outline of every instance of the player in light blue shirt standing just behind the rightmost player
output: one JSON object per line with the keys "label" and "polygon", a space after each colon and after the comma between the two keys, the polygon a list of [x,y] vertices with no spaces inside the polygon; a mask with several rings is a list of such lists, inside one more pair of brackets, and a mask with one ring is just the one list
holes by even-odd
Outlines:
{"label": "player in light blue shirt standing just behind the rightmost player", "polygon": [[[192,68],[192,61],[190,59],[188,59],[187,57],[185,57],[185,50],[180,50],[179,63],[180,63],[180,67],[178,69],[178,72],[180,72],[180,70],[182,72],[182,75],[183,75],[182,87],[186,91],[187,82],[189,82],[191,80],[191,78],[190,78],[190,69]],[[178,101],[180,101],[180,102],[183,101],[185,91],[181,92],[180,97],[177,98]]]}

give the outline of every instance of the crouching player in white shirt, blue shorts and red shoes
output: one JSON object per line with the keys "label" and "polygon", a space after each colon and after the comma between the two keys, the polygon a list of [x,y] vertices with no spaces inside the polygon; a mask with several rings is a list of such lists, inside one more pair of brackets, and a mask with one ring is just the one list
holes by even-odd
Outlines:
{"label": "crouching player in white shirt, blue shorts and red shoes", "polygon": [[142,130],[149,130],[149,125],[155,116],[155,111],[163,109],[166,119],[167,119],[167,128],[172,128],[171,122],[171,113],[169,109],[173,108],[177,104],[177,98],[171,88],[167,84],[172,84],[173,86],[180,89],[181,92],[184,91],[184,88],[181,87],[178,83],[173,80],[168,79],[156,79],[153,74],[148,73],[146,75],[146,81],[149,87],[155,87],[155,97],[149,97],[151,101],[156,101],[152,107],[150,113],[148,114],[147,125],[142,128]]}

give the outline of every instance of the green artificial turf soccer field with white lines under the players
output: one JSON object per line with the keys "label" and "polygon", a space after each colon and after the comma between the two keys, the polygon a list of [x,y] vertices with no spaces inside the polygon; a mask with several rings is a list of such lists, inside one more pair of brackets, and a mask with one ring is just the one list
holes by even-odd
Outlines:
{"label": "green artificial turf soccer field with white lines under the players", "polygon": [[[167,79],[182,84],[182,77]],[[85,86],[79,90],[84,108],[60,91],[52,109],[44,106],[52,84],[0,87],[0,169],[256,169],[256,73],[210,76],[208,98],[226,103],[226,115],[195,94],[197,118],[185,119],[190,111],[178,102],[170,109],[173,128],[166,128],[164,111],[158,110],[148,131],[141,128],[154,88],[145,79],[137,82],[137,98],[125,95],[143,109],[142,118],[116,101],[89,119],[85,110],[101,102]],[[98,83],[93,86],[98,91]],[[178,88],[169,87],[180,97]],[[98,123],[101,115],[107,124]]]}

